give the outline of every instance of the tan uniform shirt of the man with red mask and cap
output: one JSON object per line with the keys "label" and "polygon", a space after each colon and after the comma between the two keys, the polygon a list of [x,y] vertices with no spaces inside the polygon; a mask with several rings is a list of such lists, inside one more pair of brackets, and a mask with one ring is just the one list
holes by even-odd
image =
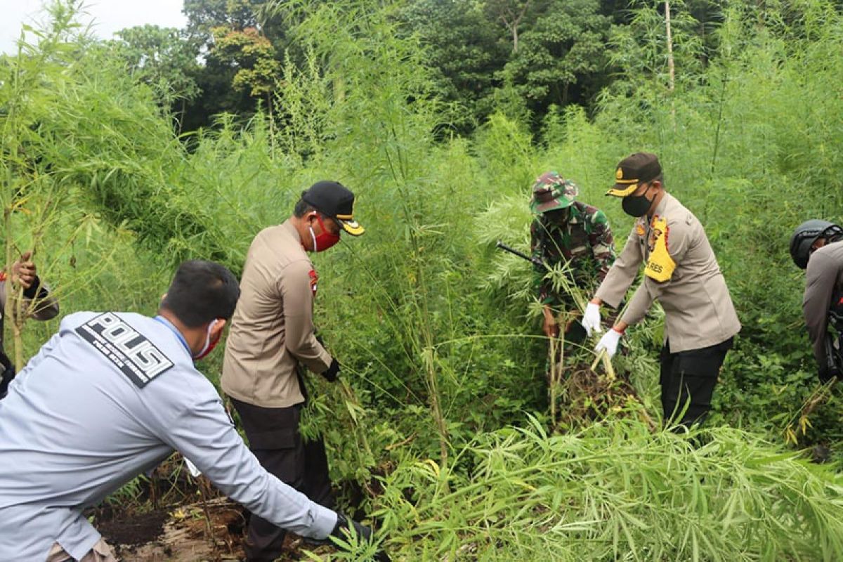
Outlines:
{"label": "tan uniform shirt of the man with red mask and cap", "polygon": [[317,276],[298,231],[287,220],[260,231],[246,255],[240,298],[223,360],[223,391],[263,408],[304,401],[301,362],[324,372],[331,357],[314,336]]}

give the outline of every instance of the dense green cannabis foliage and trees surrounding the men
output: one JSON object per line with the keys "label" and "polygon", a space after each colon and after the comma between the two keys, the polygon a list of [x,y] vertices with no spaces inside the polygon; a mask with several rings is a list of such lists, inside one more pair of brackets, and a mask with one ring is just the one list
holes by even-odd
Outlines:
{"label": "dense green cannabis foliage and trees surrounding the men", "polygon": [[[58,4],[0,60],[5,261],[35,248],[63,313],[153,313],[180,260],[239,272],[304,187],[339,179],[367,233],[314,256],[343,382],[311,380],[307,430],[397,558],[843,558],[843,395],[814,376],[787,254],[799,222],[840,220],[840,10],[679,4],[671,78],[663,6],[615,4],[185,2],[209,51],[183,73],[176,35],[92,42]],[[197,107],[212,126],[180,135]],[[602,194],[637,150],[706,226],[744,324],[690,436],[654,429],[658,310],[616,361],[638,398],[550,420],[529,264],[492,249],[525,249],[547,169],[622,244]],[[8,345],[30,356],[56,322]]]}

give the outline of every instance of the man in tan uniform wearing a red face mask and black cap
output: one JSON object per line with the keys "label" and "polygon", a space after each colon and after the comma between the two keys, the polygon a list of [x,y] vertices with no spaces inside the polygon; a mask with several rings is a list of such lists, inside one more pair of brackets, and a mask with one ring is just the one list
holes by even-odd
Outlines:
{"label": "man in tan uniform wearing a red face mask and black cap", "polygon": [[[221,379],[260,464],[329,508],[334,506],[334,495],[325,443],[304,442],[298,431],[307,399],[299,366],[330,382],[340,372],[339,363],[314,335],[319,277],[307,252],[329,249],[343,231],[352,236],[363,233],[352,217],[353,205],[354,195],[346,187],[319,181],[303,192],[293,217],[258,233],[246,255]],[[253,515],[247,559],[276,559],[284,534]]]}

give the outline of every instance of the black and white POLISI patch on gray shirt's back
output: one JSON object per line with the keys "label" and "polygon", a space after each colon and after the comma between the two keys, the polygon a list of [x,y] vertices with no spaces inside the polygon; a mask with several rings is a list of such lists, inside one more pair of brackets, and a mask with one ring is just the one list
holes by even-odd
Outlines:
{"label": "black and white POLISI patch on gray shirt's back", "polygon": [[164,353],[137,329],[114,313],[102,313],[76,329],[105,359],[143,388],[174,366]]}

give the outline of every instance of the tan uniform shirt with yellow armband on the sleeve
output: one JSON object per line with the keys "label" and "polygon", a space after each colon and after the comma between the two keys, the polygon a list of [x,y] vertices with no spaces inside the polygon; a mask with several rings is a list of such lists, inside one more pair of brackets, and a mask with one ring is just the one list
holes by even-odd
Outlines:
{"label": "tan uniform shirt with yellow armband on the sleeve", "polygon": [[668,193],[652,219],[645,215],[636,220],[596,297],[617,307],[642,264],[644,280],[621,320],[636,324],[658,299],[671,353],[716,345],[738,333],[738,315],[706,232]]}

